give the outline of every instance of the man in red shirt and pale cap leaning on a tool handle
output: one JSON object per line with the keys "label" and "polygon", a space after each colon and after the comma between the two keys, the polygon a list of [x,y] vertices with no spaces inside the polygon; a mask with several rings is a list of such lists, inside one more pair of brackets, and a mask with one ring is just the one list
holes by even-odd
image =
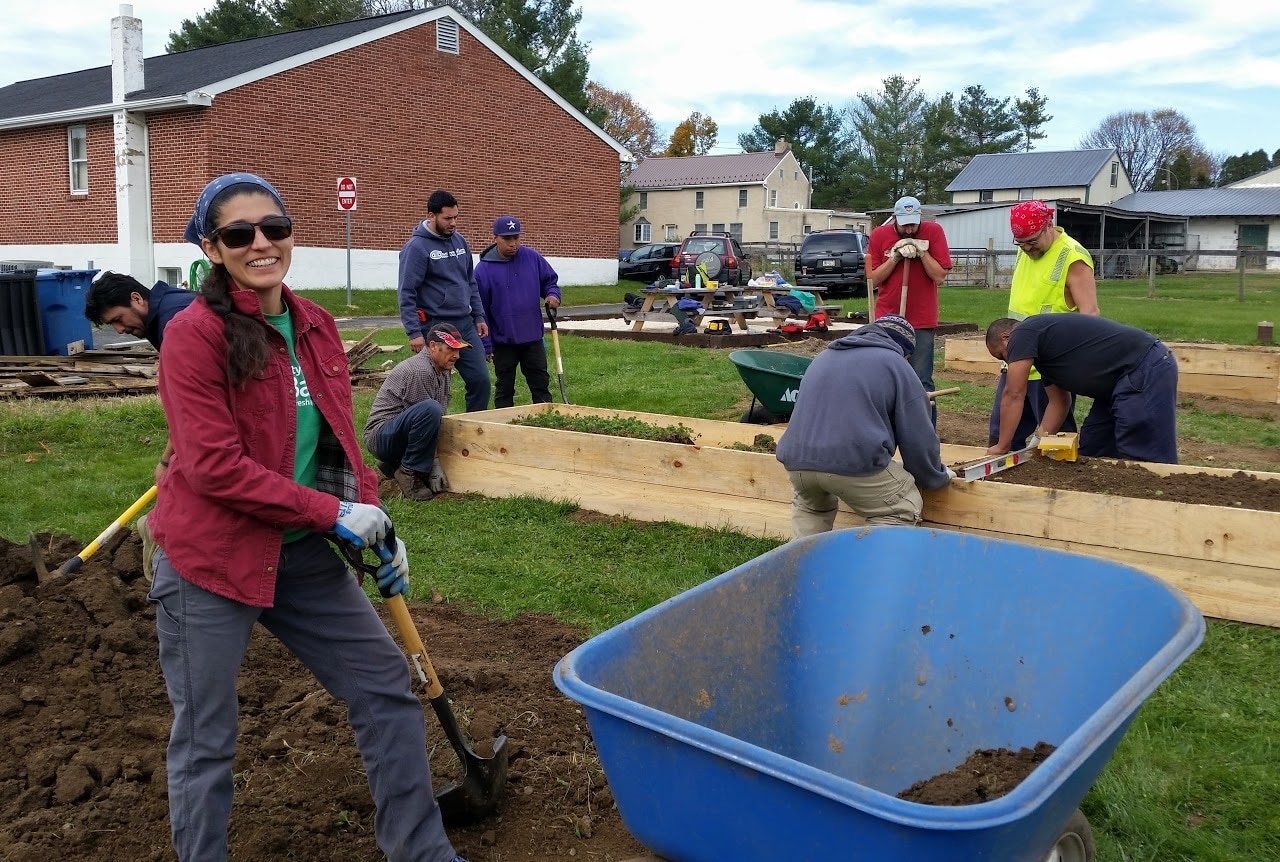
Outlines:
{"label": "man in red shirt and pale cap leaning on a tool handle", "polygon": [[[938,287],[951,269],[947,236],[937,222],[920,218],[920,201],[900,197],[893,218],[872,231],[867,248],[868,289],[876,289],[876,314],[906,318],[915,329],[911,368],[933,392],[933,330],[938,325]],[[937,409],[931,406],[933,424]]]}

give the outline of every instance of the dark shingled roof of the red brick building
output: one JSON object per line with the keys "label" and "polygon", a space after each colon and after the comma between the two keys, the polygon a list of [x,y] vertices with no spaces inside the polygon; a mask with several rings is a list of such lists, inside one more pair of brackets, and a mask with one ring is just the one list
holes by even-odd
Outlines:
{"label": "dark shingled roof of the red brick building", "polygon": [[[225,81],[264,65],[288,60],[298,54],[385,27],[410,15],[430,12],[436,10],[398,12],[342,24],[310,27],[275,36],[260,36],[178,54],[151,56],[143,61],[146,90],[131,92],[125,100],[141,101],[161,96],[179,96],[218,81]],[[93,105],[109,105],[110,102],[111,67],[101,65],[47,78],[19,81],[8,87],[0,87],[0,119],[54,114]]]}

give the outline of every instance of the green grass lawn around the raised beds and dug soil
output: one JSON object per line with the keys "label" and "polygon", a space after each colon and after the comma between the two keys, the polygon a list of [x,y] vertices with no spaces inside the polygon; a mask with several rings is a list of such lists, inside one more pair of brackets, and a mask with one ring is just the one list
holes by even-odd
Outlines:
{"label": "green grass lawn around the raised beds and dug soil", "polygon": [[[1229,279],[1183,288],[1166,286],[1167,278],[1172,277],[1157,283],[1160,298],[1155,301],[1146,300],[1144,282],[1106,283],[1101,289],[1103,311],[1125,323],[1155,327],[1157,310],[1165,314],[1178,305],[1185,311],[1175,316],[1185,316],[1188,328],[1184,334],[1160,332],[1162,337],[1229,341],[1228,330],[1234,327],[1240,330],[1236,343],[1248,343],[1243,329],[1248,324],[1252,334],[1254,318],[1277,316],[1280,281],[1254,288],[1251,277],[1244,313],[1231,305],[1235,298]],[[1229,298],[1217,296],[1224,288]],[[1174,296],[1179,289],[1185,293]],[[396,313],[390,291],[378,300],[387,307],[378,307],[365,293],[379,292],[360,292],[361,307],[369,309],[361,314]],[[346,302],[346,291],[308,295],[326,305],[334,298]],[[943,296],[943,316],[984,325],[1004,313],[1006,300],[1000,291],[952,288]],[[1222,323],[1226,318],[1235,323]],[[378,341],[404,343],[403,333],[394,329],[378,333]],[[570,398],[577,403],[736,419],[750,400],[724,351],[570,334],[561,341]],[[940,384],[945,377],[940,370]],[[988,388],[969,383],[963,388],[940,401],[940,407],[987,410]],[[454,411],[461,410],[461,384],[456,389]],[[522,400],[527,396],[520,386],[517,402]],[[357,396],[357,428],[371,401],[367,392]],[[1180,420],[1185,410],[1180,410]],[[1197,418],[1193,433],[1220,442],[1240,434],[1276,439],[1274,423],[1251,421],[1258,424],[1206,412]],[[1181,425],[1184,434],[1187,428]],[[1260,437],[1263,434],[1271,437]],[[0,482],[6,503],[0,507],[0,535],[24,542],[29,532],[49,530],[88,542],[151,484],[166,438],[154,396],[0,402]],[[434,588],[449,601],[495,617],[552,614],[580,626],[584,635],[777,546],[769,539],[675,523],[580,523],[572,517],[570,501],[465,494],[429,505],[392,500],[388,507],[408,547],[415,598],[426,598]],[[431,566],[413,566],[413,561],[428,558]],[[1140,611],[1135,608],[1134,615]],[[1210,621],[1204,646],[1148,699],[1084,802],[1098,840],[1098,859],[1280,861],[1277,669],[1280,631]]]}

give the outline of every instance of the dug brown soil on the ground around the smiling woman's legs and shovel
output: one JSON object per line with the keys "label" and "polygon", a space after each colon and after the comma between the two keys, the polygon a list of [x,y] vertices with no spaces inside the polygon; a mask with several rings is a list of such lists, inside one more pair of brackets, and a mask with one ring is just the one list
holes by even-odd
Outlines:
{"label": "dug brown soil on the ground around the smiling woman's legs and shovel", "polygon": [[[41,537],[46,560],[81,546]],[[164,751],[170,710],[156,658],[141,548],[129,534],[83,574],[36,583],[28,547],[0,539],[0,858],[174,858]],[[451,829],[471,862],[617,862],[645,854],[622,826],[584,716],[552,667],[584,634],[550,617],[494,621],[460,607],[410,611],[463,729],[485,752],[509,738],[500,812]],[[234,862],[384,857],[346,710],[274,638],[255,633],[239,680]],[[430,707],[440,785],[456,771]]]}

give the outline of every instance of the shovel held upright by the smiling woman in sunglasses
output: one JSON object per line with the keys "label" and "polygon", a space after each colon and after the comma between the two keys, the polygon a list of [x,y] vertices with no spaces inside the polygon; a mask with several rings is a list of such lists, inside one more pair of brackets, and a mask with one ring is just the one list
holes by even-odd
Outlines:
{"label": "shovel held upright by the smiling woman in sunglasses", "polygon": [[[384,542],[389,548],[396,547],[394,528],[387,532]],[[337,546],[347,564],[356,571],[376,578],[380,561],[372,565],[366,564],[364,553],[348,542],[339,541]],[[503,789],[507,786],[507,738],[498,736],[494,740],[492,757],[481,757],[472,751],[462,735],[458,719],[453,715],[453,706],[444,694],[444,687],[431,665],[431,658],[426,655],[426,647],[422,646],[422,638],[417,633],[417,626],[413,625],[413,617],[408,614],[404,597],[399,594],[383,596],[383,603],[387,606],[387,612],[390,614],[397,631],[399,631],[401,642],[404,644],[404,651],[408,653],[419,681],[426,688],[426,698],[431,703],[431,710],[435,711],[435,717],[440,721],[444,735],[462,765],[462,781],[435,793],[435,802],[440,806],[440,816],[449,825],[471,824],[486,817],[498,807]]]}

